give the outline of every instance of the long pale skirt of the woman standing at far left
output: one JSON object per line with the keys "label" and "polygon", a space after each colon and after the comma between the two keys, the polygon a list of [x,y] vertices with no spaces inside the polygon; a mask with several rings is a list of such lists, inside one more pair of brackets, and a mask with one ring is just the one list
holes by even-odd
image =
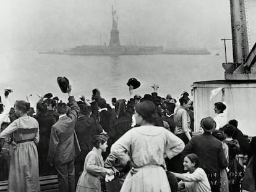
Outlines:
{"label": "long pale skirt of the woman standing at far left", "polygon": [[40,191],[38,152],[33,141],[11,146],[8,191]]}

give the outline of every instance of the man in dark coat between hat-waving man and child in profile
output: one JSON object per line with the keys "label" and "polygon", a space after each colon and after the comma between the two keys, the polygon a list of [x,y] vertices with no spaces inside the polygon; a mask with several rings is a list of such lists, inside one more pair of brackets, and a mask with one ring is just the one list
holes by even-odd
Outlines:
{"label": "man in dark coat between hat-waving man and child in profile", "polygon": [[[83,171],[83,164],[88,152],[93,148],[92,137],[93,135],[99,135],[103,132],[101,126],[97,123],[98,120],[98,105],[97,102],[89,104],[87,101],[79,101],[80,112],[77,121],[75,122],[75,132],[77,133],[77,139],[79,140],[81,152],[75,157],[75,183],[78,182],[79,176]],[[92,114],[90,115],[90,109],[92,107]]]}

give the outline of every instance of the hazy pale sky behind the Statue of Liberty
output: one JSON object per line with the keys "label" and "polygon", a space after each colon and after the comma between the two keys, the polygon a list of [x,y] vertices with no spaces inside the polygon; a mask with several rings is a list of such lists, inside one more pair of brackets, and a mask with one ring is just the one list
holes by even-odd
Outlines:
{"label": "hazy pale sky behind the Statue of Liberty", "polygon": [[[251,43],[255,0],[247,0]],[[231,38],[229,0],[12,0],[0,1],[0,48],[64,49],[109,43],[111,5],[121,44],[222,48]]]}

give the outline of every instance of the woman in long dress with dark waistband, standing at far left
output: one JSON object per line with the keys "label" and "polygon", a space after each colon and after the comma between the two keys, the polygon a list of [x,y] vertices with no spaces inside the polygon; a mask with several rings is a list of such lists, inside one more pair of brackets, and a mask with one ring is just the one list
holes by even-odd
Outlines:
{"label": "woman in long dress with dark waistband, standing at far left", "polygon": [[28,116],[30,104],[16,101],[14,120],[2,133],[0,138],[13,135],[10,149],[10,172],[8,191],[40,191],[38,172],[39,126],[35,118]]}

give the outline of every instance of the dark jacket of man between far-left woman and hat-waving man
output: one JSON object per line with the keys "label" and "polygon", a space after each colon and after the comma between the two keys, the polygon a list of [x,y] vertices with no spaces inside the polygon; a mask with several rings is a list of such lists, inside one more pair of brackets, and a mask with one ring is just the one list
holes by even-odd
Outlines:
{"label": "dark jacket of man between far-left woman and hat-waving man", "polygon": [[38,113],[33,116],[39,123],[40,141],[38,143],[38,157],[45,159],[49,150],[49,138],[51,135],[51,127],[56,123],[56,119],[46,116],[46,114]]}

